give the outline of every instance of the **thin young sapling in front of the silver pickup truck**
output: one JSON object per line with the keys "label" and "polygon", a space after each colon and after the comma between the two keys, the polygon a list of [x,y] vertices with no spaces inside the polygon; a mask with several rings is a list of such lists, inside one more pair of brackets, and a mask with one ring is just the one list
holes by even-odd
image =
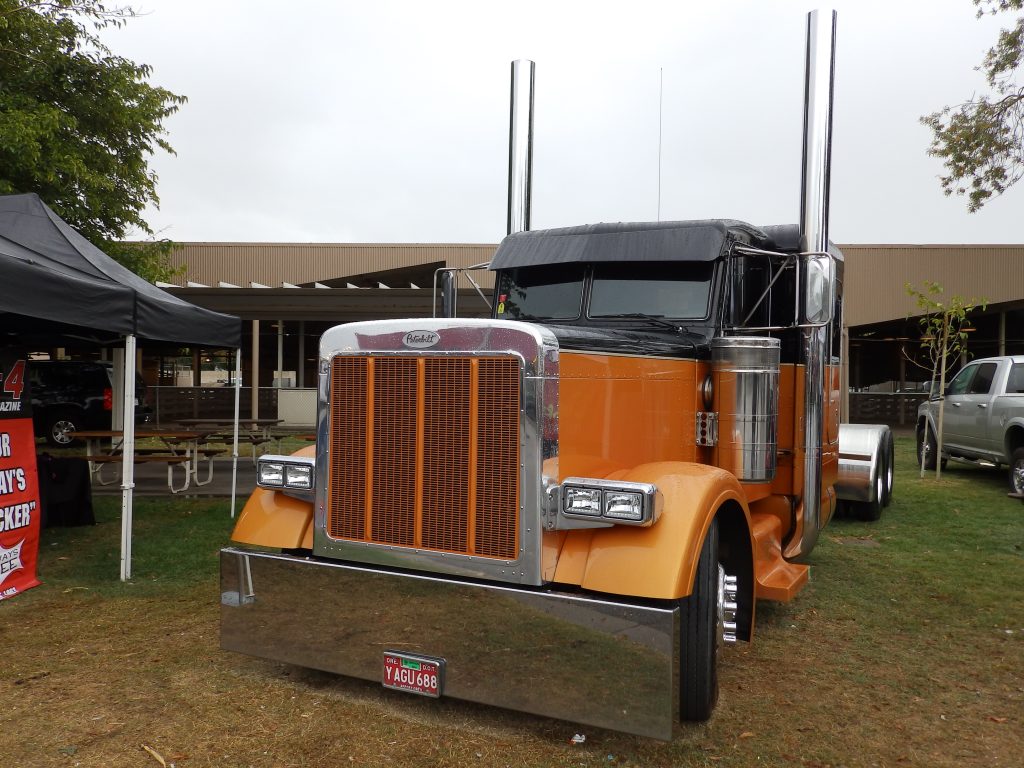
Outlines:
{"label": "thin young sapling in front of the silver pickup truck", "polygon": [[[933,281],[925,281],[925,290],[918,291],[909,283],[904,285],[908,296],[913,298],[921,311],[919,326],[921,328],[921,348],[928,358],[923,366],[915,358],[909,359],[921,368],[930,370],[931,381],[938,382],[939,415],[936,419],[935,434],[935,477],[942,477],[942,421],[945,415],[946,375],[959,365],[959,359],[967,352],[968,319],[967,315],[977,307],[985,308],[984,301],[965,299],[953,296],[948,301],[941,301],[942,286]],[[934,389],[934,386],[933,386]],[[934,396],[936,393],[933,392]],[[925,419],[925,431],[919,438],[918,460],[921,464],[921,476],[925,476],[926,452],[928,445],[928,419]]]}

